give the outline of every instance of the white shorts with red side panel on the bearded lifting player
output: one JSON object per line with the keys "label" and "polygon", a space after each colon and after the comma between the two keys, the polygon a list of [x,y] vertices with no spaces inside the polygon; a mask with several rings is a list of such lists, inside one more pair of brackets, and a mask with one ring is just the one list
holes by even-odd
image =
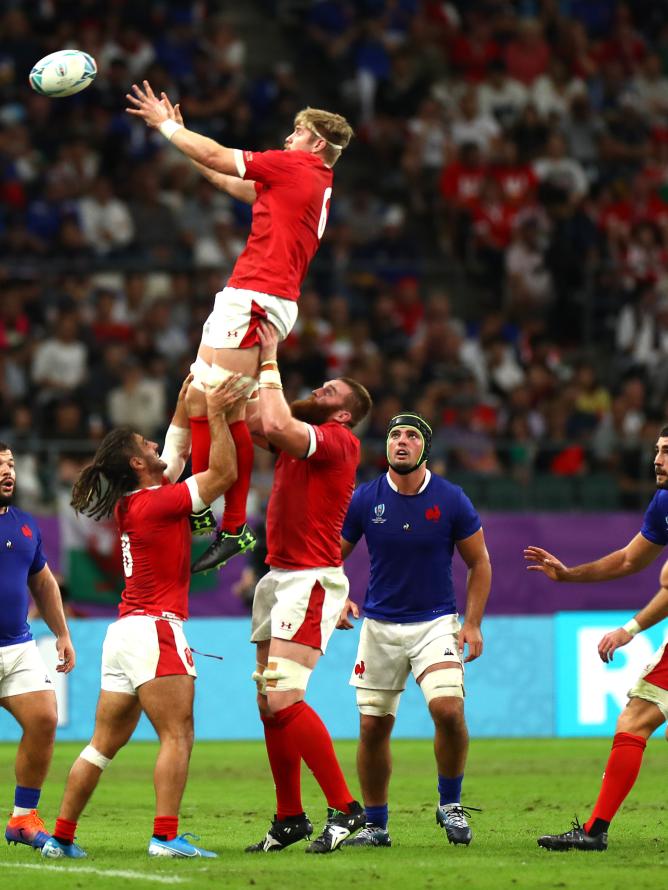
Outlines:
{"label": "white shorts with red side panel on the bearded lifting player", "polygon": [[277,637],[324,653],[347,597],[341,566],[270,568],[255,588],[251,642]]}

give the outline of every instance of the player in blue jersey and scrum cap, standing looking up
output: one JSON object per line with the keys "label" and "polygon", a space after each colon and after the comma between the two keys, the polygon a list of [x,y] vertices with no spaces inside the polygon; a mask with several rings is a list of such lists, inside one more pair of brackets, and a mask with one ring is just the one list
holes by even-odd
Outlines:
{"label": "player in blue jersey and scrum cap, standing looking up", "polygon": [[[469,844],[461,789],[468,753],[464,717],[464,661],[482,654],[480,631],[492,581],[485,538],[461,488],[427,469],[431,427],[404,412],[387,429],[389,469],[353,495],[343,524],[345,559],[364,535],[371,574],[351,685],[357,687],[357,751],[366,826],[345,846],[389,847],[390,734],[412,671],[434,721],[439,805],[436,822],[453,844]],[[466,613],[460,625],[452,585],[457,548],[468,567]],[[339,627],[352,627],[351,600]],[[468,654],[464,658],[465,646]]]}

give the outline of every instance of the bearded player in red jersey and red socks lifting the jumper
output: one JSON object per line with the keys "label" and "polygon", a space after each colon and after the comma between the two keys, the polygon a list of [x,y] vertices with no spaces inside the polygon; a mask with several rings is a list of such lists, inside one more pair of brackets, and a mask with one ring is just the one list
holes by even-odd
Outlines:
{"label": "bearded player in red jersey and red socks lifting the jumper", "polygon": [[301,761],[327,799],[327,822],[306,848],[330,853],[364,823],[336,759],[327,728],[304,701],[348,595],[339,538],[355,485],[360,444],[351,432],[371,408],[366,389],[330,380],[308,399],[283,397],[278,334],[260,325],[260,418],[266,444],[279,452],[267,507],[267,563],[253,599],[258,707],[276,786],[276,816],[246,852],[275,852],[310,837],[301,800]]}

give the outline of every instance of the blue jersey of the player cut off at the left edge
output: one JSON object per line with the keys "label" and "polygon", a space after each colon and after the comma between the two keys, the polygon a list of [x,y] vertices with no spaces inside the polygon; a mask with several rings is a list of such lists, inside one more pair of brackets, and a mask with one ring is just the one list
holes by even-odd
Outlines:
{"label": "blue jersey of the player cut off at the left edge", "polygon": [[0,646],[32,640],[28,576],[45,565],[42,536],[33,517],[17,507],[0,513]]}

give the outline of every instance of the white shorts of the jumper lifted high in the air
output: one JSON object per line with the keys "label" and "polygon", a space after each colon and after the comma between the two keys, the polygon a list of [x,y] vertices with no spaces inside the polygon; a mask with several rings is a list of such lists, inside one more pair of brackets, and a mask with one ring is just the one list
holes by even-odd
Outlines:
{"label": "white shorts of the jumper lifted high in the air", "polygon": [[202,345],[213,349],[257,346],[257,329],[269,321],[285,340],[297,320],[297,303],[271,294],[226,287],[216,294],[213,312],[204,322]]}

